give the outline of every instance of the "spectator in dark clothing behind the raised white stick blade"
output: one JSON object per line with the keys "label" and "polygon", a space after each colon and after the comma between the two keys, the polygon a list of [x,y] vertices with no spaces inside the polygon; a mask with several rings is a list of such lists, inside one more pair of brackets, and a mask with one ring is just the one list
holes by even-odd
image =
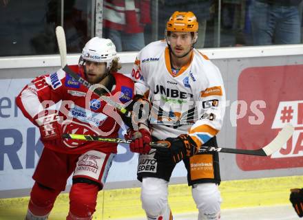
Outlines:
{"label": "spectator in dark clothing behind the raised white stick blade", "polygon": [[[80,0],[64,1],[64,21],[67,52],[81,52],[85,43],[89,40],[87,34],[87,8],[90,4]],[[43,29],[34,36],[30,43],[37,54],[54,54],[57,52],[56,26],[61,25],[61,2],[48,1],[43,18]]]}

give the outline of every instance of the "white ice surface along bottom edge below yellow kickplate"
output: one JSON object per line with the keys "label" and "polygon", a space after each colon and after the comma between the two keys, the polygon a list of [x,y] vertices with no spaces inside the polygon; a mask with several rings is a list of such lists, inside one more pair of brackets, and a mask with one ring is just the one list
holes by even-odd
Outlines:
{"label": "white ice surface along bottom edge below yellow kickplate", "polygon": [[[196,220],[198,213],[176,214],[174,220]],[[221,220],[298,220],[300,219],[291,205],[260,206],[222,210]],[[130,219],[121,219],[130,220]],[[132,218],[146,220],[146,218]]]}

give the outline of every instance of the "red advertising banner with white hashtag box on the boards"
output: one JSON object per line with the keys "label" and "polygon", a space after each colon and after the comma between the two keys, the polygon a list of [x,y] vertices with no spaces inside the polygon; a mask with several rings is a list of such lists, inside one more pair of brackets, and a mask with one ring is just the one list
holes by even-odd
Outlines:
{"label": "red advertising banner with white hashtag box on the boards", "polygon": [[[270,157],[236,155],[241,170],[303,167],[303,65],[251,67],[238,78],[236,147],[258,149],[269,144],[284,124],[293,137]],[[247,108],[247,109],[246,109]]]}

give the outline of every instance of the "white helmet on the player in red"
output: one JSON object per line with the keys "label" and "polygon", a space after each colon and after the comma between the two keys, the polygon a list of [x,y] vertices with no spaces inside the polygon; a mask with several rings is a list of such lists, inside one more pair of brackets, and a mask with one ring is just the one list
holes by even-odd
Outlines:
{"label": "white helmet on the player in red", "polygon": [[81,60],[96,63],[106,63],[110,69],[112,60],[117,58],[116,46],[110,39],[101,39],[97,36],[87,41],[82,50]]}

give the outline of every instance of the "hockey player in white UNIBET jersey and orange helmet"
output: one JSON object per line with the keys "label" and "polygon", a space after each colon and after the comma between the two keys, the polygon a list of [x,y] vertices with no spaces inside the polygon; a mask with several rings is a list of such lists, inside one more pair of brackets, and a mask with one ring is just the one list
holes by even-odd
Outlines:
{"label": "hockey player in white UNIBET jersey and orange helmet", "polygon": [[[149,151],[147,129],[140,129],[142,137],[131,143],[132,151],[141,153],[138,179],[142,181],[142,206],[149,220],[172,219],[167,186],[181,160],[199,210],[198,220],[220,219],[218,153],[196,153],[203,144],[216,146],[225,91],[218,67],[194,48],[197,32],[194,13],[174,12],[167,22],[165,41],[144,47],[132,69],[136,96],[151,103],[151,137],[170,146]],[[134,133],[128,134],[134,139]]]}

